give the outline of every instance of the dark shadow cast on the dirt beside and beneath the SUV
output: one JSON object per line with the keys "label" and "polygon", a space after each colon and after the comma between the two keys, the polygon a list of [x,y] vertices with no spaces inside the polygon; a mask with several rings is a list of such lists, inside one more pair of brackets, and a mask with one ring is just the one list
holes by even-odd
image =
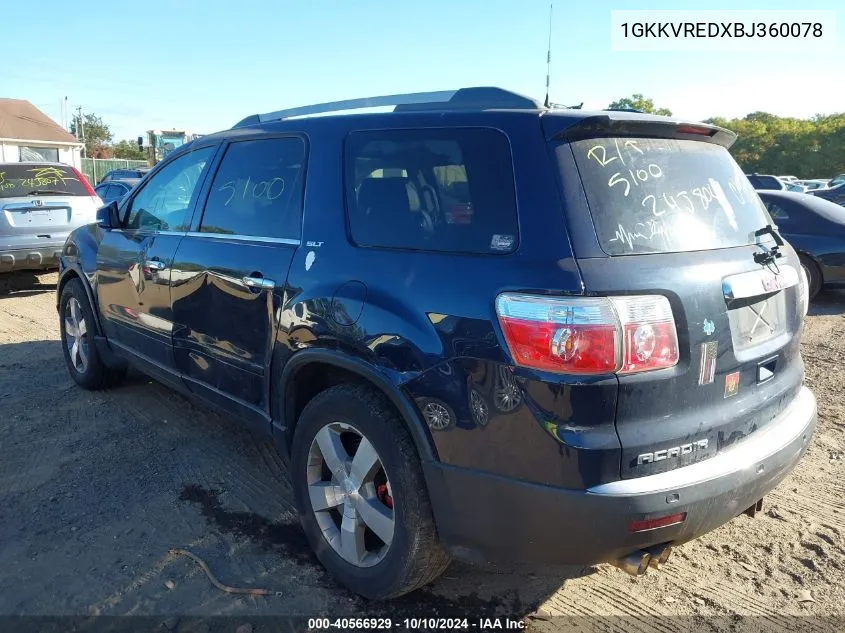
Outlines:
{"label": "dark shadow cast on the dirt beside and beneath the SUV", "polygon": [[[0,345],[0,371],[0,542],[10,544],[0,614],[524,617],[595,571],[453,563],[429,587],[368,602],[311,554],[266,438],[136,372],[84,391],[59,341]],[[280,596],[223,593],[172,548],[201,556],[221,582]]]}

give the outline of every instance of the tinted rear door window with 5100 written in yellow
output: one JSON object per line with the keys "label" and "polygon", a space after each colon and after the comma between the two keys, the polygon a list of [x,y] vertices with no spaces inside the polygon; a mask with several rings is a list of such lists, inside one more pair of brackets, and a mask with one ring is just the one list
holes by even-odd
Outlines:
{"label": "tinted rear door window with 5100 written in yellow", "polygon": [[305,143],[297,137],[238,141],[211,183],[200,231],[298,239]]}

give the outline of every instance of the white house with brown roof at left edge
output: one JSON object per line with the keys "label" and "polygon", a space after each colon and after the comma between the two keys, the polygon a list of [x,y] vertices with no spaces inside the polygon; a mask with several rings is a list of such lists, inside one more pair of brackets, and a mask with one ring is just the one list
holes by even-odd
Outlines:
{"label": "white house with brown roof at left edge", "polygon": [[82,169],[82,143],[23,99],[0,99],[0,163],[53,161]]}

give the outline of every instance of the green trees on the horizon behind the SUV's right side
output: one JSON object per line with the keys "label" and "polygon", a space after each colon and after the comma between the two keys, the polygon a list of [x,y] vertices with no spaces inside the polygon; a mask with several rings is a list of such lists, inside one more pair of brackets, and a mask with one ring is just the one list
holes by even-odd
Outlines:
{"label": "green trees on the horizon behind the SUV's right side", "polygon": [[[655,107],[641,94],[608,107],[672,115],[671,110]],[[704,122],[736,132],[730,151],[746,173],[797,178],[833,178],[845,173],[845,112],[809,119],[752,112],[740,119],[713,117]]]}

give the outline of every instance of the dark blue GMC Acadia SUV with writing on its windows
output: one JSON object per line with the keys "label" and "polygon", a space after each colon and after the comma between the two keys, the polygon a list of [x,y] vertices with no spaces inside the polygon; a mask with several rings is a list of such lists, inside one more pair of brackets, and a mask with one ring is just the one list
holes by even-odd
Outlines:
{"label": "dark blue GMC Acadia SUV with writing on its windows", "polygon": [[451,557],[642,574],[759,509],[816,422],[806,279],[733,140],[492,88],[249,117],[70,236],[68,369],[272,435],[365,596]]}

